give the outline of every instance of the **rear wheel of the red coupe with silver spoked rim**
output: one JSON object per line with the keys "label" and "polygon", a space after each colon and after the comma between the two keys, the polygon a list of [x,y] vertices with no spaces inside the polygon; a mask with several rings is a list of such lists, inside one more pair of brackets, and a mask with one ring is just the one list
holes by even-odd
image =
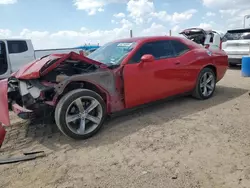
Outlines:
{"label": "rear wheel of the red coupe with silver spoked rim", "polygon": [[211,68],[204,68],[201,70],[195,89],[193,91],[193,97],[205,100],[213,96],[216,87],[216,76]]}

